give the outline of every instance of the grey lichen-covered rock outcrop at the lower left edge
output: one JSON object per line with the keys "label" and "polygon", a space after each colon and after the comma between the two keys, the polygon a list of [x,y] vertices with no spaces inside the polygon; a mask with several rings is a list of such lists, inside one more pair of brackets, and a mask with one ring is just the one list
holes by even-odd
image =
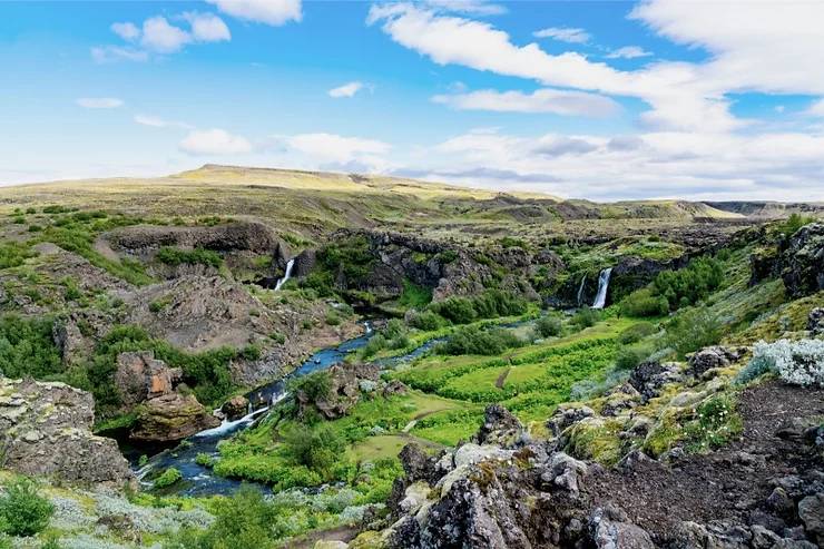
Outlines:
{"label": "grey lichen-covered rock outcrop at the lower left edge", "polygon": [[90,393],[0,375],[0,467],[112,487],[133,482],[117,442],[91,433],[94,419]]}

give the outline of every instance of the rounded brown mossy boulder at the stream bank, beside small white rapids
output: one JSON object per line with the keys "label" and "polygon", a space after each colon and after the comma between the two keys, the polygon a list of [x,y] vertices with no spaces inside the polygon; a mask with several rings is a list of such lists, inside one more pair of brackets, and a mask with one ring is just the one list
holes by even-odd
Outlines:
{"label": "rounded brown mossy boulder at the stream bank, beside small white rapids", "polygon": [[143,441],[176,441],[219,425],[195,396],[166,394],[146,401],[137,415],[131,438]]}

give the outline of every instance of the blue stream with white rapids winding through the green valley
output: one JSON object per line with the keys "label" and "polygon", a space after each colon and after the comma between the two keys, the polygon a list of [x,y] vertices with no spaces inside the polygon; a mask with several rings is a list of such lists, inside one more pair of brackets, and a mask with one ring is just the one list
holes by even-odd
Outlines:
{"label": "blue stream with white rapids winding through the green valley", "polygon": [[[523,326],[533,321],[522,321],[511,324],[504,324],[502,327],[518,327]],[[258,389],[249,391],[245,394],[249,401],[251,412],[244,418],[235,421],[224,420],[220,425],[202,431],[187,440],[188,445],[180,448],[175,445],[171,448],[167,444],[165,448],[159,445],[133,445],[125,437],[117,437],[114,433],[107,434],[118,439],[120,444],[120,451],[129,460],[135,470],[135,474],[140,480],[144,489],[151,488],[151,483],[147,482],[145,477],[153,470],[165,469],[174,467],[183,474],[183,479],[171,487],[158,490],[160,494],[177,494],[177,496],[189,496],[189,497],[209,497],[215,494],[228,494],[241,487],[242,482],[235,479],[226,479],[213,474],[212,470],[206,467],[198,465],[195,463],[195,459],[199,453],[206,453],[213,459],[218,458],[219,452],[217,444],[219,441],[229,439],[233,434],[238,431],[251,427],[256,420],[262,418],[269,408],[277,402],[286,398],[287,393],[284,389],[286,381],[290,378],[300,378],[306,375],[315,370],[321,370],[331,366],[336,362],[342,362],[346,355],[353,351],[363,347],[372,336],[372,329],[370,323],[363,324],[366,327],[366,333],[360,337],[347,340],[334,347],[323,349],[317,351],[315,354],[310,356],[301,366],[288,374],[286,378],[275,381],[273,383],[263,385]],[[393,367],[398,364],[403,364],[412,361],[413,359],[423,355],[430,349],[438,343],[445,341],[447,337],[435,337],[426,341],[423,345],[399,356],[392,356],[386,359],[379,359],[374,361],[383,367]],[[138,460],[141,454],[151,455],[148,463],[139,468]],[[153,455],[154,454],[154,455]],[[263,484],[258,486],[262,490],[268,490]]]}

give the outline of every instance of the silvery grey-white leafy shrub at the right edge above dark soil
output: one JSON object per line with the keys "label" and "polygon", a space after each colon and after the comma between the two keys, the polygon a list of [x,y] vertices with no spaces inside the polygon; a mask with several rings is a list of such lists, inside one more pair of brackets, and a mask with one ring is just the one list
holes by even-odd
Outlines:
{"label": "silvery grey-white leafy shrub at the right edge above dark soil", "polygon": [[746,383],[771,372],[794,385],[824,384],[824,341],[759,341],[753,349],[753,360],[736,381]]}

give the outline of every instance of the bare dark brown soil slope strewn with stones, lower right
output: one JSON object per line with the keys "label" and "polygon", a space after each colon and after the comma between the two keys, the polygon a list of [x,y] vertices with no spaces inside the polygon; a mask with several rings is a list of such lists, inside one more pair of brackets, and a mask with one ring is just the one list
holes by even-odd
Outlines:
{"label": "bare dark brown soil slope strewn with stones, lower right", "polygon": [[744,432],[729,448],[710,455],[687,455],[671,468],[653,460],[605,471],[590,496],[599,506],[614,502],[650,532],[680,521],[737,519],[763,508],[771,479],[801,474],[822,465],[815,448],[783,440],[776,432],[794,418],[824,415],[824,390],[768,381],[739,395]]}

